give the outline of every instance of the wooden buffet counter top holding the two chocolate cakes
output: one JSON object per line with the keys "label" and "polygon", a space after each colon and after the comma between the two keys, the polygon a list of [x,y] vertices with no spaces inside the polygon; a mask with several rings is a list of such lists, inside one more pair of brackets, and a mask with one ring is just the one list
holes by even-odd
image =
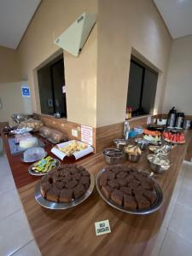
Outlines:
{"label": "wooden buffet counter top holding the two chocolate cakes", "polygon": [[[192,131],[187,131],[188,142],[172,149],[171,168],[155,177],[163,190],[165,200],[158,212],[147,216],[126,214],[108,206],[98,195],[96,188],[88,200],[78,207],[52,211],[39,206],[34,199],[34,189],[38,181],[30,180],[25,186],[19,186],[20,199],[41,253],[46,256],[149,255],[165,216],[191,136]],[[146,154],[148,152],[143,154],[139,163],[131,166],[137,166],[141,170],[148,169]],[[9,155],[12,172],[19,172],[19,168],[20,172],[26,175],[28,166],[14,164],[13,158]],[[125,163],[128,164],[127,161]],[[93,174],[107,166],[102,153],[80,160],[79,164]],[[95,222],[105,219],[109,220],[112,232],[96,236]]]}

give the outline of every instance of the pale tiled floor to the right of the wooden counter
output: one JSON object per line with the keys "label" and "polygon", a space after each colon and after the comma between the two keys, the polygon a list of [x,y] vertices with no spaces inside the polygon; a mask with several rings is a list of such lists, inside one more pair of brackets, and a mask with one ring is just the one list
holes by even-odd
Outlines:
{"label": "pale tiled floor to the right of the wooden counter", "polygon": [[192,255],[192,165],[184,163],[151,256]]}

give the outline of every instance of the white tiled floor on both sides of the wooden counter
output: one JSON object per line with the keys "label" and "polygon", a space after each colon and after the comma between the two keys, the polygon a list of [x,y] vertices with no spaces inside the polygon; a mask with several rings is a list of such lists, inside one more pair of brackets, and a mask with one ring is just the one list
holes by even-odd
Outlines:
{"label": "white tiled floor on both sides of the wooden counter", "polygon": [[[7,157],[0,156],[0,256],[39,256]],[[192,255],[192,165],[183,164],[151,256]]]}

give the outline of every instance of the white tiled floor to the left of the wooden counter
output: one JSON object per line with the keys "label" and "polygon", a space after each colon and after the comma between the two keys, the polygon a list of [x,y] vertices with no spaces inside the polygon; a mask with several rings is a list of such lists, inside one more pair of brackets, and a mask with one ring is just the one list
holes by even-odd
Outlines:
{"label": "white tiled floor to the left of the wooden counter", "polygon": [[40,256],[6,156],[0,156],[0,256]]}

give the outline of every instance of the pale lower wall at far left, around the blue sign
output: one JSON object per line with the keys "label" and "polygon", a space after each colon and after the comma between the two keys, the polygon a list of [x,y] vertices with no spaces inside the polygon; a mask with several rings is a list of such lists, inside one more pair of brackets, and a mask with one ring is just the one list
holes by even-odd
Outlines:
{"label": "pale lower wall at far left, around the blue sign", "polygon": [[0,84],[0,122],[9,121],[12,125],[13,113],[32,113],[31,98],[21,96],[21,84],[22,81]]}

